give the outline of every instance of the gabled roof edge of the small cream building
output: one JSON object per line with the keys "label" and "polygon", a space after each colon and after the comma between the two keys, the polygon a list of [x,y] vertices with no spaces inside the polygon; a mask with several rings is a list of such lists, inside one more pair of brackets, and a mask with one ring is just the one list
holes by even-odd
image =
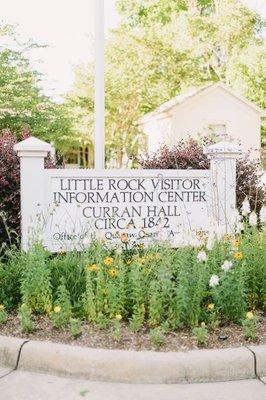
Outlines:
{"label": "gabled roof edge of the small cream building", "polygon": [[261,117],[266,117],[266,110],[261,109],[252,101],[248,100],[247,98],[240,95],[239,93],[233,91],[229,86],[225,85],[223,82],[217,82],[217,83],[211,83],[209,85],[206,85],[206,86],[203,86],[200,88],[190,89],[185,93],[179,94],[178,96],[167,101],[166,103],[163,103],[161,106],[156,108],[154,111],[151,111],[148,114],[144,115],[142,118],[139,119],[139,124],[145,124],[146,122],[148,122],[154,118],[163,117],[164,114],[166,114],[168,111],[170,111],[173,107],[184,104],[185,102],[190,101],[194,97],[197,97],[197,96],[200,96],[203,94],[207,94],[217,88],[222,88],[227,93],[229,93],[231,96],[242,101],[247,106],[252,108],[254,111],[258,112],[261,115]]}

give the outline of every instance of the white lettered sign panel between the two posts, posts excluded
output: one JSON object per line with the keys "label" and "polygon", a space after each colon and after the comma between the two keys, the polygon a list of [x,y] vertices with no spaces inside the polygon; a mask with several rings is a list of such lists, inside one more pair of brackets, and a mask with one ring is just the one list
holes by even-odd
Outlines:
{"label": "white lettered sign panel between the two posts, posts excluded", "polygon": [[82,247],[92,239],[147,243],[206,230],[209,171],[46,170],[45,244]]}

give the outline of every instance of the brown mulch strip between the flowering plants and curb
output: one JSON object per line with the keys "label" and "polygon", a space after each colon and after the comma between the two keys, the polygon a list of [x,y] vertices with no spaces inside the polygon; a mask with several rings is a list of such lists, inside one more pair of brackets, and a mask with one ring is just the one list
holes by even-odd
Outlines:
{"label": "brown mulch strip between the flowering plants and curb", "polygon": [[8,321],[0,325],[0,335],[23,337],[31,340],[51,341],[69,345],[84,346],[103,349],[124,349],[124,350],[156,350],[156,351],[187,351],[199,348],[228,348],[247,345],[266,344],[266,317],[259,316],[258,339],[256,341],[246,340],[242,326],[230,324],[219,327],[216,331],[209,333],[208,344],[198,346],[197,340],[189,329],[182,329],[168,333],[165,342],[159,348],[154,347],[150,342],[149,329],[132,332],[126,323],[121,325],[121,341],[113,338],[112,327],[101,330],[98,327],[84,322],[82,333],[74,339],[69,329],[59,330],[52,326],[47,316],[37,315],[33,317],[35,331],[26,334],[21,332],[20,320],[17,315],[9,315]]}

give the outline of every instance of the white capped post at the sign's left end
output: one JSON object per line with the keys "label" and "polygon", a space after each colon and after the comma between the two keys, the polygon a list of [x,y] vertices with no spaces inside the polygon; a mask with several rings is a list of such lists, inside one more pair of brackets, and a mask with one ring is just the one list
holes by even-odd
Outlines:
{"label": "white capped post at the sign's left end", "polygon": [[20,158],[21,246],[27,251],[30,230],[44,210],[44,158],[51,151],[51,145],[30,137],[17,143],[14,150]]}

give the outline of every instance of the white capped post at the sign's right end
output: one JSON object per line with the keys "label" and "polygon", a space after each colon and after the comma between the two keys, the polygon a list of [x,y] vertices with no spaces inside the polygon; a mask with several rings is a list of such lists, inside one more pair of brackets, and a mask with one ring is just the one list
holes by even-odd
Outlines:
{"label": "white capped post at the sign's right end", "polygon": [[236,160],[239,146],[219,142],[205,150],[210,159],[211,215],[224,233],[232,233],[236,210]]}

